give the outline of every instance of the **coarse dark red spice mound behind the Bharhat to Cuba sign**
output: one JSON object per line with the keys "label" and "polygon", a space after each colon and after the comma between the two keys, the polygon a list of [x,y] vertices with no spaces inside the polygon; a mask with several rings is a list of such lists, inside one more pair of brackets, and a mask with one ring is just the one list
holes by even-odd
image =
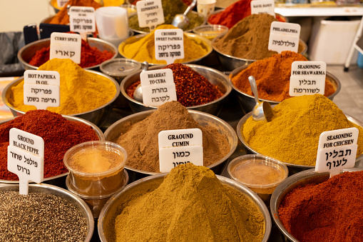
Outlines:
{"label": "coarse dark red spice mound behind the Bharhat to Cuba sign", "polygon": [[[177,101],[185,107],[207,104],[223,96],[218,86],[211,84],[208,79],[189,66],[175,63],[165,66],[163,69],[173,71]],[[140,81],[134,82],[126,89],[126,93],[131,98],[133,98],[133,92],[138,84]]]}

